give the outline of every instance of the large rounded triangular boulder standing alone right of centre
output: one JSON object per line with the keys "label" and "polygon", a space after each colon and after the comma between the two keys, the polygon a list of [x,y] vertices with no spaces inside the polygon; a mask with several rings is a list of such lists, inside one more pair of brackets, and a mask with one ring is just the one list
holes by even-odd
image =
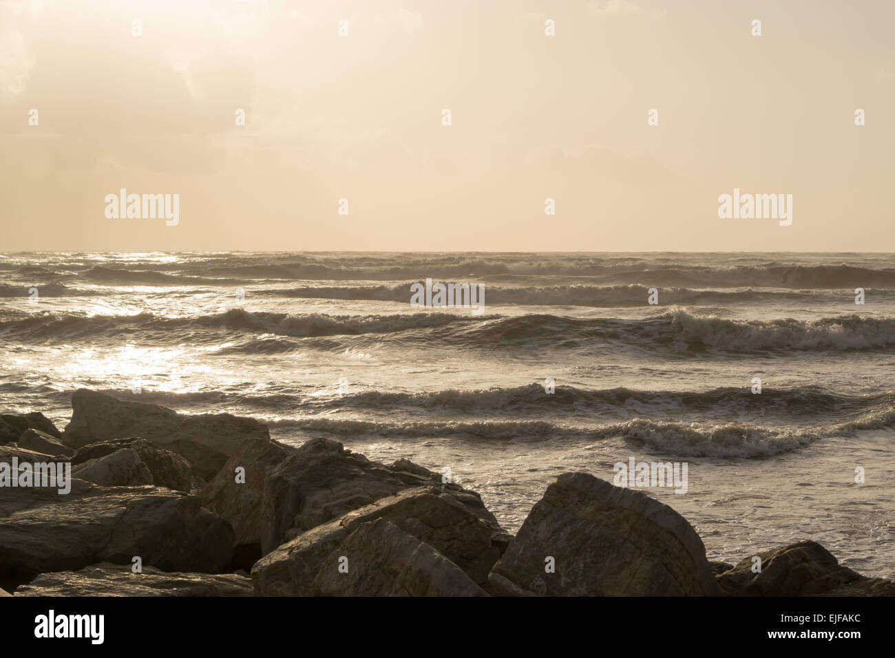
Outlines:
{"label": "large rounded triangular boulder standing alone right of centre", "polygon": [[[555,571],[549,573],[547,560]],[[720,595],[699,535],[640,491],[566,473],[491,570],[491,594]]]}

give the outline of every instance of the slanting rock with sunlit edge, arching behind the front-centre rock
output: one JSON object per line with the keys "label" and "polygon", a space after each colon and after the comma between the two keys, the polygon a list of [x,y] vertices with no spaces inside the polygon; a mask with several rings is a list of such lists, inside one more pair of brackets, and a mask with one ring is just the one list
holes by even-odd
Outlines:
{"label": "slanting rock with sunlit edge, arching behind the front-centre rock", "polygon": [[490,568],[500,555],[491,541],[493,531],[488,524],[452,493],[429,485],[354,509],[278,547],[251,569],[255,594],[318,594],[312,583],[329,554],[358,526],[379,518],[429,544],[461,568],[473,583],[487,582]]}

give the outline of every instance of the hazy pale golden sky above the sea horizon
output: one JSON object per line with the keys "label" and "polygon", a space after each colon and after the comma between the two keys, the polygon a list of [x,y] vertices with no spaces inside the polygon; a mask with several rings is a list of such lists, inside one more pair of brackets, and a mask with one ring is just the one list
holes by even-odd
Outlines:
{"label": "hazy pale golden sky above the sea horizon", "polygon": [[[0,0],[0,251],[895,251],[893,24],[891,0]],[[122,187],[179,194],[177,226],[107,218]],[[792,225],[719,218],[734,188],[792,194]]]}

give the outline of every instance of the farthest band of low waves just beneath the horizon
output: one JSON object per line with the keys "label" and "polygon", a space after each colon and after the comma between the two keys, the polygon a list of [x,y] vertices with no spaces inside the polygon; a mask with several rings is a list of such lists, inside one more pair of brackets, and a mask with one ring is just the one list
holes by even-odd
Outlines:
{"label": "farthest band of low waves just beneath the horizon", "polygon": [[[782,254],[781,254],[782,255]],[[64,258],[62,257],[64,256]],[[0,269],[19,273],[74,276],[124,285],[234,285],[259,280],[404,281],[432,278],[514,281],[586,278],[602,286],[683,288],[771,287],[843,289],[895,287],[891,256],[815,254],[767,261],[767,255],[731,254],[549,254],[489,253],[218,253],[171,254],[164,259],[97,264],[95,254],[33,254],[4,262]],[[834,259],[842,258],[842,261]],[[848,259],[852,262],[846,262]],[[826,261],[814,264],[816,261]],[[693,264],[704,263],[704,264]],[[131,268],[140,269],[131,269]],[[27,275],[27,276],[26,276]]]}

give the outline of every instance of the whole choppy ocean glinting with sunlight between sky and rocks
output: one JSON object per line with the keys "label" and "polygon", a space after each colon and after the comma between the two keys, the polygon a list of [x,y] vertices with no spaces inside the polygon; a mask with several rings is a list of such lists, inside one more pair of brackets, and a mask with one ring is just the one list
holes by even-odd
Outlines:
{"label": "whole choppy ocean glinting with sunlight between sky and rocks", "polygon": [[[483,308],[413,306],[427,278]],[[813,539],[895,577],[891,254],[5,252],[0,355],[6,413],[251,415],[449,475],[510,531],[558,474],[686,463],[644,491],[710,560]]]}

